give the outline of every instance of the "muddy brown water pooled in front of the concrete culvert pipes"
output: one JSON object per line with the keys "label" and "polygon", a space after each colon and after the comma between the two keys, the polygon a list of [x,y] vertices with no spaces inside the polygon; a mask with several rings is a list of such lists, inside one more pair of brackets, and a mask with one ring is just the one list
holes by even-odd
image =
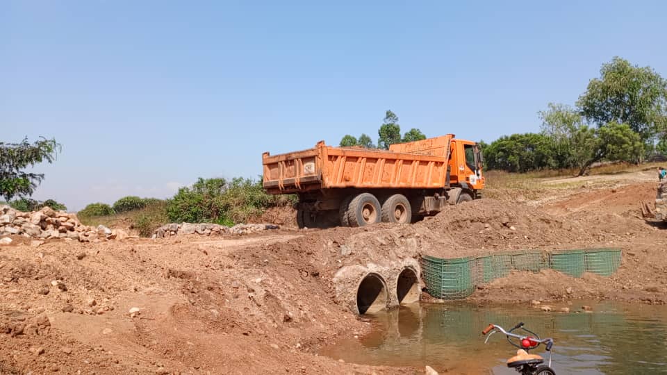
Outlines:
{"label": "muddy brown water pooled in front of the concrete culvert pipes", "polygon": [[[500,333],[484,344],[480,332],[489,323],[509,329],[524,322],[541,337],[554,338],[552,367],[559,375],[667,372],[667,306],[603,301],[568,307],[577,311],[584,304],[593,311],[417,303],[375,315],[370,335],[340,340],[320,354],[368,365],[429,365],[456,374],[517,374],[505,365],[516,348]],[[548,361],[543,346],[532,353]]]}

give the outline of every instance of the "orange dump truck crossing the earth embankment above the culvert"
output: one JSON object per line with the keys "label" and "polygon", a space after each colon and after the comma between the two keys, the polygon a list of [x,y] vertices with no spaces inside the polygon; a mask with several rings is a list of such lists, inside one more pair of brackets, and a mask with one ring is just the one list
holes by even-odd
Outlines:
{"label": "orange dump truck crossing the earth embankment above the culvert", "polygon": [[409,223],[481,197],[477,143],[453,134],[392,144],[388,151],[331,147],[262,155],[269,194],[297,194],[299,228]]}

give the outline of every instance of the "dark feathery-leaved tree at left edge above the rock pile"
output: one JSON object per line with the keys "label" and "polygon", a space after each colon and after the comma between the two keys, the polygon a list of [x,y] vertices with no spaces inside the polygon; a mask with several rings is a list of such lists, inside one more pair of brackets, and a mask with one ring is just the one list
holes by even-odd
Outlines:
{"label": "dark feathery-leaved tree at left edge above the rock pile", "polygon": [[7,201],[16,196],[31,196],[44,180],[44,174],[23,169],[43,161],[53,163],[60,150],[55,139],[42,138],[33,144],[28,143],[28,138],[21,143],[0,142],[0,195]]}

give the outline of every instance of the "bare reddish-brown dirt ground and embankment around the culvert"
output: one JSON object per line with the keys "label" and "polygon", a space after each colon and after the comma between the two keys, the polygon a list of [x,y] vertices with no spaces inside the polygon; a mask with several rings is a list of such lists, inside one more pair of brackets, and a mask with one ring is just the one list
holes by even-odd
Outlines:
{"label": "bare reddish-brown dirt ground and embankment around the culvert", "polygon": [[424,253],[620,247],[622,264],[609,278],[514,273],[470,298],[665,303],[667,226],[639,214],[657,182],[643,172],[599,180],[568,180],[581,186],[538,204],[513,202],[509,191],[406,226],[298,231],[276,210],[268,219],[286,229],[228,238],[38,247],[15,238],[0,247],[0,374],[422,374],[316,351],[370,330],[336,299],[340,267]]}

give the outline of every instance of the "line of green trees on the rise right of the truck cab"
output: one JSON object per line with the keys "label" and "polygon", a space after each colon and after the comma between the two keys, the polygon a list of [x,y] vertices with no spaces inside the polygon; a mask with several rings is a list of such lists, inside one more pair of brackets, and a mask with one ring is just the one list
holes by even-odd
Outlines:
{"label": "line of green trees on the rise right of the truck cab", "polygon": [[581,176],[600,161],[639,163],[667,154],[667,81],[623,58],[602,65],[575,108],[549,103],[538,115],[540,133],[480,142],[488,169],[575,168]]}

